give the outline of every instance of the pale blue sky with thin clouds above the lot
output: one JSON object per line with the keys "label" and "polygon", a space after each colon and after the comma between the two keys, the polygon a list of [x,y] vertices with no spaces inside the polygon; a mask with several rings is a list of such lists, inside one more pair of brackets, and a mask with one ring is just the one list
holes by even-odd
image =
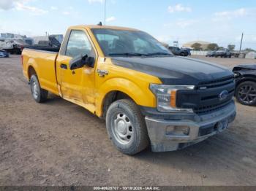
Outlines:
{"label": "pale blue sky with thin clouds above the lot", "polygon": [[126,26],[170,45],[201,40],[256,49],[255,0],[0,0],[0,33],[64,34],[69,26]]}

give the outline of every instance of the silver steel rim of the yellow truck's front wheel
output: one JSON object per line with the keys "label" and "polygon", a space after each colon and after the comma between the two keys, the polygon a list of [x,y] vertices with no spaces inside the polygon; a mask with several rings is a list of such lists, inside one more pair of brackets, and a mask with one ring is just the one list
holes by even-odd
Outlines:
{"label": "silver steel rim of the yellow truck's front wheel", "polygon": [[119,144],[129,144],[134,132],[132,122],[126,114],[116,114],[116,117],[113,120],[112,132]]}

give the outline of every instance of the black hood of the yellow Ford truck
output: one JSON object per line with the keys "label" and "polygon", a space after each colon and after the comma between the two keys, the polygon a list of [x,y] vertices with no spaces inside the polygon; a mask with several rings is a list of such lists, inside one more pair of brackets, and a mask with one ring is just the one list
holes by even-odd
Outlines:
{"label": "black hood of the yellow Ford truck", "polygon": [[165,85],[197,85],[233,76],[228,69],[214,63],[181,57],[115,57],[113,63],[127,69],[158,77]]}

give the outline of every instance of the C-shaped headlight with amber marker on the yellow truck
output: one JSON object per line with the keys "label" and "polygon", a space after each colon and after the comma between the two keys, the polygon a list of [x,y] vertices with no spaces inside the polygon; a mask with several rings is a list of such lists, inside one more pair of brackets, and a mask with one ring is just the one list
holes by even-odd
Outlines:
{"label": "C-shaped headlight with amber marker on the yellow truck", "polygon": [[194,90],[194,85],[150,85],[150,90],[157,97],[159,112],[193,112],[192,109],[176,107],[177,90]]}

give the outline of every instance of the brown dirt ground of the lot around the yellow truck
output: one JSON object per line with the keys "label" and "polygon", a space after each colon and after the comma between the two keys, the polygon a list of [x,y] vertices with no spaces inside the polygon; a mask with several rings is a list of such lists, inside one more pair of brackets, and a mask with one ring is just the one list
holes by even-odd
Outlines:
{"label": "brown dirt ground of the lot around the yellow truck", "polygon": [[[256,63],[197,58],[230,68]],[[86,109],[53,95],[37,104],[20,56],[0,58],[0,185],[256,185],[256,107],[237,108],[230,128],[206,141],[129,157]]]}

